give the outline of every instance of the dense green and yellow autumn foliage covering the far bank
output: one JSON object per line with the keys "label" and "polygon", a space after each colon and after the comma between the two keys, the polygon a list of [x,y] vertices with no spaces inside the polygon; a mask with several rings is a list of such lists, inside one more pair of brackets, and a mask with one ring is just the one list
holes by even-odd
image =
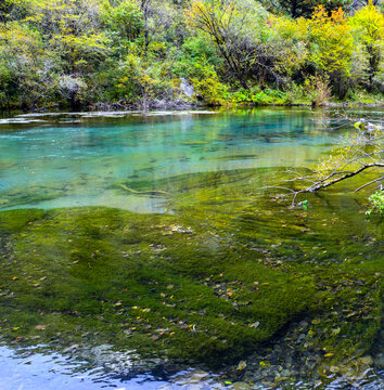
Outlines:
{"label": "dense green and yellow autumn foliage covering the far bank", "polygon": [[380,99],[383,36],[372,0],[3,0],[0,106]]}

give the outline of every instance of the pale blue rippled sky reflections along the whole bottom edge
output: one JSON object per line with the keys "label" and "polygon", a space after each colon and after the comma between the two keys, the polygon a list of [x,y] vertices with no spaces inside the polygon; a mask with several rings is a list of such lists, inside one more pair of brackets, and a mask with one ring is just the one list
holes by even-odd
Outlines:
{"label": "pale blue rippled sky reflections along the whole bottom edge", "polygon": [[[230,382],[219,375],[201,369],[168,370],[155,367],[151,370],[132,369],[128,353],[112,352],[107,346],[92,349],[87,359],[41,352],[43,347],[10,350],[0,347],[1,390],[283,390],[283,386]],[[367,369],[358,378],[330,377],[324,390],[383,389],[380,376]],[[298,381],[290,389],[316,389],[312,382]]]}

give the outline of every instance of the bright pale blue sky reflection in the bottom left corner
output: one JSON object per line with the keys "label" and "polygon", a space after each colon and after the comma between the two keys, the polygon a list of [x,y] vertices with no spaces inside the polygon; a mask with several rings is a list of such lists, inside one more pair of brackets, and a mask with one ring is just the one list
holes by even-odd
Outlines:
{"label": "bright pale blue sky reflection in the bottom left corner", "polygon": [[[36,352],[38,349],[17,351],[0,347],[0,389],[7,390],[97,390],[105,388],[158,389],[166,380],[150,374],[137,374],[129,378],[124,370],[111,366],[116,356],[106,351],[92,351],[93,364],[59,353]],[[128,366],[129,355],[124,359]],[[115,367],[114,367],[115,368]],[[119,367],[120,368],[120,367]],[[126,367],[127,368],[127,367]],[[129,373],[129,370],[127,372]]]}

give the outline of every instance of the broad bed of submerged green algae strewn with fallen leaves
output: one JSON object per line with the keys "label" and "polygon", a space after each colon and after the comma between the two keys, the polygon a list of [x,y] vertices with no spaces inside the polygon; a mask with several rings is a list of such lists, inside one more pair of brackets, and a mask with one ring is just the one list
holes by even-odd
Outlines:
{"label": "broad bed of submerged green algae strewn with fallen leaves", "polygon": [[320,370],[368,353],[381,324],[382,223],[338,190],[310,196],[307,211],[271,202],[261,187],[281,174],[159,180],[174,216],[1,212],[1,335],[219,366],[309,315]]}

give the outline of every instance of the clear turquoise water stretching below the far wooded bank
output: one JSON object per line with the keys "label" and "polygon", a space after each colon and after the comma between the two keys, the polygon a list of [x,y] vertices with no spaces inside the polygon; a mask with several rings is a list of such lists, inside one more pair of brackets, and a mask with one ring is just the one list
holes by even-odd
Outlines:
{"label": "clear turquoise water stretching below the far wooded bank", "polygon": [[125,194],[114,184],[308,165],[341,135],[340,130],[325,131],[316,122],[319,115],[307,108],[121,116],[4,119],[0,122],[0,207],[110,206],[162,212],[163,199]]}

